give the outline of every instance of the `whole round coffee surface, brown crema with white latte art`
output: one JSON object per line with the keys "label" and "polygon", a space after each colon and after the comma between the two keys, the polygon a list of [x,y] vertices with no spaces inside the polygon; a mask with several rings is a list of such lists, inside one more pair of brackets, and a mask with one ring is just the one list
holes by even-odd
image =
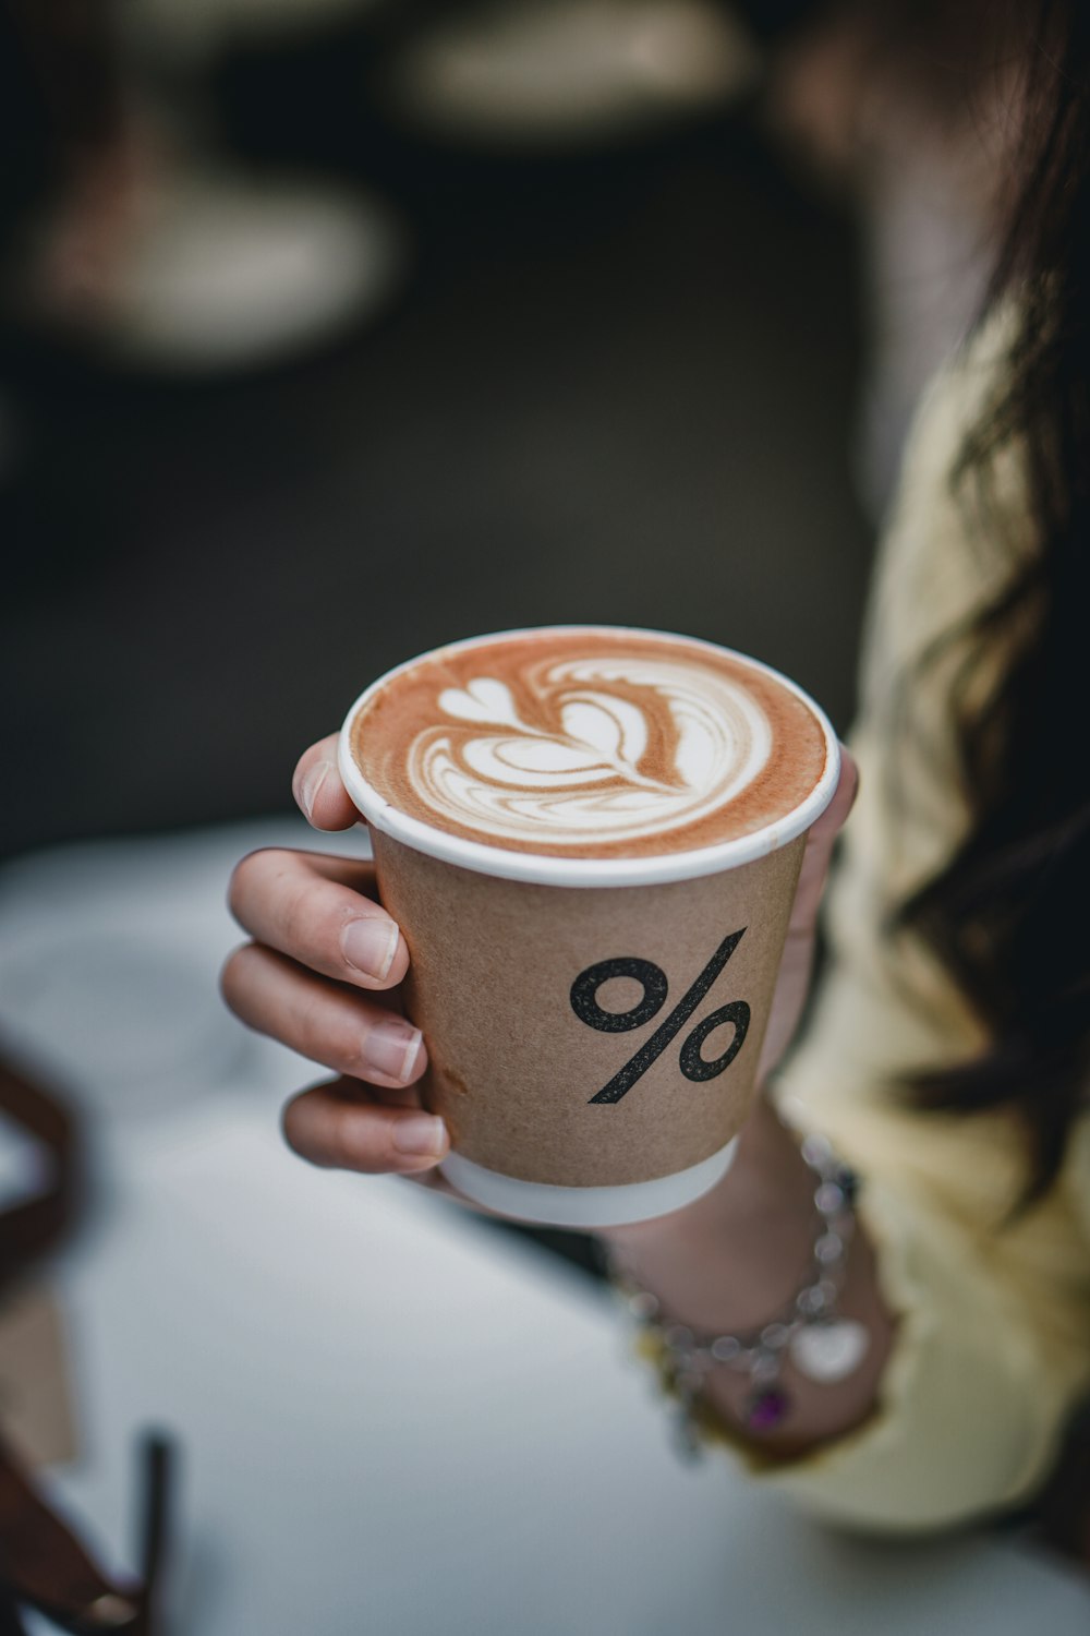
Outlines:
{"label": "whole round coffee surface, brown crema with white latte art", "polygon": [[394,808],[484,846],[660,857],[784,818],[825,735],[730,653],[624,630],[543,630],[436,649],[356,713],[351,754]]}

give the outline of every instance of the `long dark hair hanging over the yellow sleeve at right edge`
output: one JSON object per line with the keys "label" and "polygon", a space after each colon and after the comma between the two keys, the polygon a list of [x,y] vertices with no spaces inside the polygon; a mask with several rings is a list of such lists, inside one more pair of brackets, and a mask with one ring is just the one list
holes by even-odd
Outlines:
{"label": "long dark hair hanging over the yellow sleeve at right edge", "polygon": [[[953,483],[1002,538],[989,478],[1013,445],[1033,550],[922,661],[953,643],[966,654],[949,707],[971,825],[899,919],[940,955],[990,1042],[976,1060],[918,1075],[914,1096],[1013,1109],[1031,1140],[1028,1202],[1054,1181],[1090,1086],[1090,8],[1021,0],[1018,28],[1021,134],[987,299],[987,312],[1015,308],[1016,337]],[[997,653],[1002,676],[981,697]]]}

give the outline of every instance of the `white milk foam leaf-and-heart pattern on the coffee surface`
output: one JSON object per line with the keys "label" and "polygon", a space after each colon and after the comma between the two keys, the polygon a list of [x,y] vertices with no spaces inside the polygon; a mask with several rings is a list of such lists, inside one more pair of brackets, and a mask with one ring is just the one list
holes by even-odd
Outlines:
{"label": "white milk foam leaf-and-heart pattern on the coffee surface", "polygon": [[[547,666],[533,684],[533,720],[495,676],[438,694],[444,721],[405,746],[405,767],[440,821],[500,844],[639,839],[724,807],[771,751],[757,702],[693,666],[588,659]],[[652,744],[665,748],[654,771]]]}

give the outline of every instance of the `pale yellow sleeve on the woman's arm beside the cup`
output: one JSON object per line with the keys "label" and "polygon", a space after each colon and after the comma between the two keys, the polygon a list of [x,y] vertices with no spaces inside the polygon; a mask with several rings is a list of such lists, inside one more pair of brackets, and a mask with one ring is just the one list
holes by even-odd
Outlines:
{"label": "pale yellow sleeve on the woman's arm beside the cup", "polygon": [[853,1435],[788,1463],[735,1445],[760,1481],[861,1528],[935,1528],[1028,1497],[1090,1389],[1087,1119],[1049,1198],[1012,1220],[1025,1180],[1013,1121],[917,1112],[897,1094],[905,1072],[982,1042],[923,946],[886,928],[966,821],[945,712],[959,654],[923,672],[917,661],[1010,573],[1025,512],[1013,453],[995,471],[995,501],[1015,525],[1003,542],[974,530],[948,481],[995,378],[995,334],[987,340],[992,355],[979,344],[936,384],[905,461],[871,607],[861,789],[830,893],[832,970],[780,1083],[796,1117],[829,1134],[863,1178],[860,1216],[897,1315],[894,1353],[881,1402]]}

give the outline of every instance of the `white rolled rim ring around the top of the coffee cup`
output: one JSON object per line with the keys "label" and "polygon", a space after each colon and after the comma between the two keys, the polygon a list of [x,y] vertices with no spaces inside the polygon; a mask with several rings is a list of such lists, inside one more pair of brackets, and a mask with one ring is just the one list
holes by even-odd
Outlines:
{"label": "white rolled rim ring around the top of the coffee cup", "polygon": [[[462,836],[451,834],[446,829],[435,828],[420,818],[399,811],[392,802],[368,782],[351,754],[351,725],[360,712],[371,703],[379,689],[423,659],[464,653],[469,648],[482,648],[498,641],[541,636],[546,631],[588,636],[601,633],[611,638],[641,636],[659,641],[678,641],[685,646],[727,654],[739,664],[760,671],[794,694],[819,723],[825,739],[825,767],[820,779],[797,807],[760,829],[735,836],[730,841],[717,841],[713,846],[691,847],[685,852],[660,852],[639,857],[556,857],[552,854],[507,851],[500,846],[487,846],[484,841],[467,841]],[[461,641],[443,643],[438,648],[428,648],[412,659],[405,659],[391,671],[384,671],[382,676],[376,677],[360,694],[345,717],[340,731],[338,767],[353,805],[374,829],[391,836],[394,841],[400,841],[402,846],[412,847],[415,852],[436,857],[444,864],[454,864],[459,869],[469,869],[480,875],[494,875],[500,880],[523,880],[539,887],[652,887],[673,880],[699,880],[703,875],[719,875],[727,869],[739,869],[742,864],[752,864],[758,857],[778,852],[783,846],[804,834],[833,798],[840,780],[840,743],[825,712],[814,703],[797,682],[775,671],[770,664],[763,664],[747,653],[739,653],[735,648],[724,648],[719,643],[704,641],[701,636],[644,630],[636,625],[538,625],[525,630],[490,631],[484,636],[467,636]]]}

